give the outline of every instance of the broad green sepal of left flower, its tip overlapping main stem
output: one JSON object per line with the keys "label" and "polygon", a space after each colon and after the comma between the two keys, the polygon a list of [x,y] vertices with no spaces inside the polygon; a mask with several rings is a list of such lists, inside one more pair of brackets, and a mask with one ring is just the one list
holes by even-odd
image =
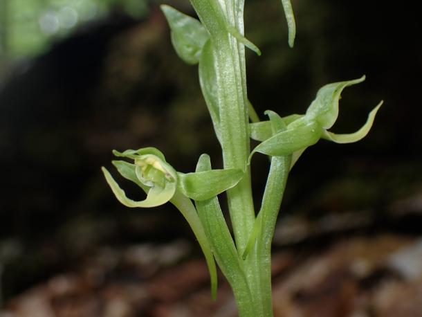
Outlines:
{"label": "broad green sepal of left flower, its tip overlapping main stem", "polygon": [[244,176],[239,169],[178,173],[178,190],[196,201],[210,199],[235,187]]}

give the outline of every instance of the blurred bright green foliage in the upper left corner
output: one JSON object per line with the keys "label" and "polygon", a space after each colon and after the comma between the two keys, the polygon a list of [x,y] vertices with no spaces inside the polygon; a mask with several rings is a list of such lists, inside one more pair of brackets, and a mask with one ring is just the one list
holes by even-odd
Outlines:
{"label": "blurred bright green foliage in the upper left corner", "polygon": [[77,26],[120,10],[135,19],[146,0],[0,0],[0,60],[43,53]]}

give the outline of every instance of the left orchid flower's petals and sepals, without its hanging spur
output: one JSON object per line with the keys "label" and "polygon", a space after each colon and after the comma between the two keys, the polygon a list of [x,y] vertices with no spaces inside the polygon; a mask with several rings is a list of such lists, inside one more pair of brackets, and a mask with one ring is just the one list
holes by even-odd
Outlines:
{"label": "left orchid flower's petals and sepals, without its hanging spur", "polygon": [[122,153],[114,150],[113,154],[134,160],[134,163],[127,161],[112,161],[112,163],[125,179],[133,181],[147,192],[147,197],[143,201],[129,199],[109,171],[102,167],[107,183],[118,201],[131,208],[163,205],[170,201],[176,192],[195,201],[210,199],[233,188],[244,175],[244,171],[239,169],[207,170],[187,174],[176,172],[165,161],[163,153],[155,147],[126,150]]}

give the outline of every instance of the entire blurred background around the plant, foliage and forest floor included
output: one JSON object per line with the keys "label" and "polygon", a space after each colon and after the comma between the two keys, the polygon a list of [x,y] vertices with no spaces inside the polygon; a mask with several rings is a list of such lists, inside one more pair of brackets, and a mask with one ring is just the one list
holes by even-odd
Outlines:
{"label": "entire blurred background around the plant, foliage and forest floor included", "polygon": [[[181,215],[125,208],[100,172],[111,150],[147,146],[181,172],[204,152],[221,166],[197,68],[174,53],[160,3],[0,0],[0,316],[235,316],[223,281],[210,300]],[[279,1],[246,1],[259,116],[302,114],[324,84],[363,74],[332,131],[355,131],[385,103],[363,141],[320,141],[292,170],[276,314],[422,316],[421,3],[292,3],[290,49]],[[267,169],[255,156],[257,208]]]}

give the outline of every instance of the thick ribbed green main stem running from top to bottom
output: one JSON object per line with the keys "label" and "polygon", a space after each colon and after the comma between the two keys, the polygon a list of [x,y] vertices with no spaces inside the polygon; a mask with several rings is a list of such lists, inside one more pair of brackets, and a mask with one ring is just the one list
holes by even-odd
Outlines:
{"label": "thick ribbed green main stem running from top to bottom", "polygon": [[[244,0],[209,1],[191,0],[203,25],[210,33],[214,56],[214,69],[217,77],[219,105],[219,127],[225,168],[239,168],[245,171],[244,178],[228,190],[228,207],[232,221],[235,243],[239,255],[244,252],[255,221],[253,195],[250,184],[250,169],[247,165],[250,154],[248,133],[248,103],[246,91],[246,62],[243,44],[228,33],[227,26],[235,26],[244,31]],[[272,316],[264,314],[261,269],[258,248],[244,261],[244,274],[248,282],[252,301],[244,309],[237,299],[240,316]],[[239,293],[240,285],[233,284],[234,293]],[[252,311],[250,311],[252,309]],[[249,311],[248,313],[246,311]]]}

